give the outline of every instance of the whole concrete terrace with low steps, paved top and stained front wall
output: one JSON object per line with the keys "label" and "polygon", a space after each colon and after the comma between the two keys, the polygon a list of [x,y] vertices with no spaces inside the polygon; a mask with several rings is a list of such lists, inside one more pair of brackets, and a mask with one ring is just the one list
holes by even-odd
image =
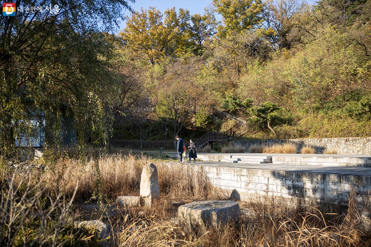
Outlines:
{"label": "whole concrete terrace with low steps, paved top and stained front wall", "polygon": [[[279,197],[280,200],[291,201],[301,197],[304,200],[331,200],[345,205],[350,191],[354,189],[360,205],[370,206],[371,156],[246,153],[197,155],[203,161],[185,165],[201,167],[211,184],[223,189],[230,198],[249,201]],[[315,164],[305,164],[308,160]],[[300,164],[301,161],[303,164]]]}

